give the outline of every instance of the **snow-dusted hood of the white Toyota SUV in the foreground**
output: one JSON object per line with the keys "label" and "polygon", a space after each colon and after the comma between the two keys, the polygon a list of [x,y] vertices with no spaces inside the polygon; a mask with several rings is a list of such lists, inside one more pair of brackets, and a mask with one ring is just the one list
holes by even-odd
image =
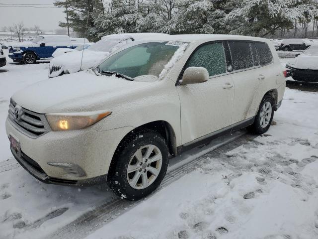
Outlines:
{"label": "snow-dusted hood of the white Toyota SUV in the foreground", "polygon": [[111,108],[123,96],[142,96],[154,84],[96,76],[88,70],[40,81],[16,92],[12,100],[40,114],[111,110],[106,108]]}

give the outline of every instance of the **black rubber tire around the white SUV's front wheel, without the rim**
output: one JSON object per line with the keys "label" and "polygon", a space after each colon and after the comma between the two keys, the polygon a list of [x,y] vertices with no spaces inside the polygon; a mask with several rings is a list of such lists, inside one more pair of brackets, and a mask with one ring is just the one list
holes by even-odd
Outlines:
{"label": "black rubber tire around the white SUV's front wheel, without the rim", "polygon": [[[131,179],[130,177],[133,178],[135,174],[137,174],[138,172],[143,173],[143,171],[148,170],[148,168],[139,169],[138,171],[132,172],[130,174],[127,174],[127,169],[131,159],[136,160],[136,164],[134,165],[139,164],[139,162],[137,161],[137,158],[133,156],[138,149],[141,149],[145,147],[146,145],[155,145],[157,147],[156,150],[159,149],[162,156],[161,166],[160,166],[159,174],[157,178],[153,179],[152,183],[149,186],[147,186],[146,188],[136,189],[130,185],[128,180],[133,181],[133,179]],[[156,152],[152,151],[152,153],[155,154]],[[143,156],[145,156],[145,154],[143,154]],[[154,130],[138,130],[136,132],[132,132],[131,134],[129,134],[122,140],[121,144],[116,149],[116,152],[114,154],[114,157],[112,159],[110,169],[108,172],[107,183],[109,187],[112,189],[112,191],[116,193],[117,195],[131,201],[139,200],[149,195],[150,193],[152,193],[159,187],[168,168],[168,164],[169,164],[168,155],[169,155],[169,151],[168,151],[166,142],[164,138],[158,132]],[[144,160],[144,157],[143,157],[143,160]],[[145,163],[143,163],[143,165],[140,167],[144,168],[145,166],[144,164]],[[149,164],[147,166],[149,167]],[[152,175],[148,171],[147,172],[144,171],[144,173],[146,174],[146,176],[148,174]],[[149,176],[149,177],[151,178],[154,176]],[[144,178],[141,176],[137,176],[137,178],[139,178],[138,180],[140,180],[140,181],[137,181],[137,182],[140,182],[139,185],[142,185]],[[147,182],[148,182],[148,176],[147,176]],[[136,184],[135,186],[137,185],[138,184]]]}

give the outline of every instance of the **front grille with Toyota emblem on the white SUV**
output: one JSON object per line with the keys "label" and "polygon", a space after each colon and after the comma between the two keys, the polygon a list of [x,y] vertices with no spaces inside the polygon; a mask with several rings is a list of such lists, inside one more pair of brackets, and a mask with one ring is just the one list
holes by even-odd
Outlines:
{"label": "front grille with Toyota emblem on the white SUV", "polygon": [[[16,111],[18,114],[16,114]],[[21,133],[31,137],[37,138],[38,136],[51,130],[45,116],[35,112],[26,110],[11,99],[9,105],[9,120]]]}

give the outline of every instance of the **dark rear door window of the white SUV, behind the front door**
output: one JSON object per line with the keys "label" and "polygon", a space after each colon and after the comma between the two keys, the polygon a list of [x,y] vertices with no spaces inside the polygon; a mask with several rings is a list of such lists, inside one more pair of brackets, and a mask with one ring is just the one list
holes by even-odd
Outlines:
{"label": "dark rear door window of the white SUV, behind the front door", "polygon": [[253,56],[247,41],[229,41],[233,70],[253,67]]}

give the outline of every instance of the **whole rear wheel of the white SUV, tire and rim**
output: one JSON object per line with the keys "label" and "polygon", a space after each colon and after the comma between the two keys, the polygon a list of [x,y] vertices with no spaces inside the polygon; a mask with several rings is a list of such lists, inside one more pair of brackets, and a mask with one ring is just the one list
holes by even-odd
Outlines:
{"label": "whole rear wheel of the white SUV, tire and rim", "polygon": [[274,104],[275,101],[271,96],[264,96],[259,106],[254,123],[249,126],[251,132],[255,134],[262,134],[269,129],[274,117]]}

